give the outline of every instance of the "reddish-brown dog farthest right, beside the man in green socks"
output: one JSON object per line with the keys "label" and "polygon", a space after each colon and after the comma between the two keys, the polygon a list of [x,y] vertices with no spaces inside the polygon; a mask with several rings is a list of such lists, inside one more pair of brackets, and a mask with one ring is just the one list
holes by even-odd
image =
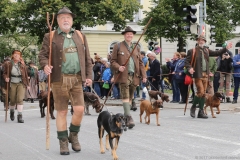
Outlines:
{"label": "reddish-brown dog farthest right, beside the man in green socks", "polygon": [[210,94],[205,94],[206,97],[206,101],[205,101],[205,107],[204,107],[204,113],[207,115],[207,107],[210,106],[211,109],[211,113],[212,113],[212,118],[216,118],[216,116],[214,115],[213,112],[213,108],[216,107],[217,108],[217,112],[216,114],[220,114],[220,102],[222,100],[222,94],[219,92],[214,93],[214,95],[210,95]]}

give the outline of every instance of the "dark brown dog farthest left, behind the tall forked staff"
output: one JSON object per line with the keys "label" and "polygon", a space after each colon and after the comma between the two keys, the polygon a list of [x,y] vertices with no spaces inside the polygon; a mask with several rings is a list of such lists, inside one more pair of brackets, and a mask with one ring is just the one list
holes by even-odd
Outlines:
{"label": "dark brown dog farthest left, behind the tall forked staff", "polygon": [[[41,118],[45,117],[45,107],[47,106],[47,96],[48,96],[47,91],[41,91],[38,95]],[[53,99],[52,91],[50,91],[50,110],[49,111],[50,111],[51,118],[55,119],[53,115],[54,99]]]}

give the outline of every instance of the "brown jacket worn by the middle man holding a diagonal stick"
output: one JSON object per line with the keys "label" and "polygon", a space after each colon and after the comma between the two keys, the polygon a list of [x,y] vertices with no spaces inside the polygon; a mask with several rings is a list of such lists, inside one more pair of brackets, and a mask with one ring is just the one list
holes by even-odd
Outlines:
{"label": "brown jacket worn by the middle man holding a diagonal stick", "polygon": [[[130,56],[130,52],[128,51],[127,47],[124,44],[124,41],[120,43],[118,47],[118,43],[114,45],[113,52],[112,52],[112,59],[111,59],[111,67],[113,69],[114,79],[117,80],[117,83],[127,83],[128,79],[128,64],[126,65],[126,69],[121,73],[121,76],[117,78],[119,74],[119,67],[124,65]],[[145,66],[142,62],[140,51],[136,47],[134,52],[132,53],[133,61],[134,61],[134,85],[140,84],[140,78],[147,78]],[[129,61],[128,61],[129,62]]]}

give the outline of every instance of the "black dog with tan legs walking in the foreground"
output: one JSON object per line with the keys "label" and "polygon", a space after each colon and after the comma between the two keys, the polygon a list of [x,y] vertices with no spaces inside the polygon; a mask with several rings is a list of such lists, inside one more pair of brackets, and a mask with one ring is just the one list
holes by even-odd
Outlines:
{"label": "black dog with tan legs walking in the foreground", "polygon": [[[118,156],[116,153],[118,142],[120,136],[123,133],[123,130],[126,131],[126,118],[122,113],[117,113],[116,115],[111,115],[108,111],[103,111],[99,114],[97,119],[98,125],[98,136],[100,143],[100,152],[103,154],[104,145],[103,145],[103,136],[104,130],[108,133],[106,135],[106,149],[109,150],[109,144],[112,150],[112,156],[114,160],[118,160]],[[115,138],[115,146],[113,146],[113,139]]]}

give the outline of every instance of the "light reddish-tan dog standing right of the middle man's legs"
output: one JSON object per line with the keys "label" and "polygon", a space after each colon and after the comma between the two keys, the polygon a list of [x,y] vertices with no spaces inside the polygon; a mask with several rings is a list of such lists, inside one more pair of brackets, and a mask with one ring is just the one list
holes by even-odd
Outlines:
{"label": "light reddish-tan dog standing right of the middle man's legs", "polygon": [[[156,114],[156,123],[157,126],[160,126],[159,123],[159,112],[160,108],[162,107],[163,101],[162,100],[156,100],[153,102],[153,104],[149,100],[144,100],[140,104],[140,122],[142,123],[142,114],[144,111],[146,112],[146,115],[144,117],[145,123],[150,124],[150,114]],[[148,117],[148,121],[147,121]]]}

